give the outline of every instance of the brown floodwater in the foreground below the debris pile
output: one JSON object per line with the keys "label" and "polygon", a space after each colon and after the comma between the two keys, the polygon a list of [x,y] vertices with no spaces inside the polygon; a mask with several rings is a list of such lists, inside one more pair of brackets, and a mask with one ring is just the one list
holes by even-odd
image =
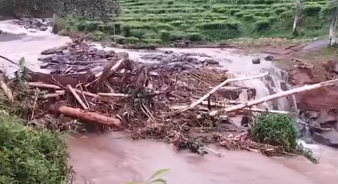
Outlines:
{"label": "brown floodwater in the foreground below the debris pile", "polygon": [[[82,137],[81,137],[82,136]],[[163,175],[170,184],[181,183],[336,183],[338,152],[314,146],[320,164],[305,158],[266,157],[248,151],[214,148],[200,156],[188,151],[176,152],[172,145],[152,140],[131,140],[121,132],[86,134],[71,137],[71,164],[76,172],[75,183],[97,184],[142,181],[159,169],[170,169]]]}

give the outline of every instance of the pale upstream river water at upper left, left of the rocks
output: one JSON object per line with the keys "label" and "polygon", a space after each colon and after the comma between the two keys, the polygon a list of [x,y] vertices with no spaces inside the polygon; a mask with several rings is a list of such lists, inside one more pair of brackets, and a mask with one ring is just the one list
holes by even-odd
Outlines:
{"label": "pale upstream river water at upper left, left of the rocks", "polygon": [[[0,30],[17,34],[12,36],[14,39],[11,41],[0,41],[0,55],[17,63],[21,57],[25,57],[26,65],[36,72],[49,73],[48,70],[40,69],[41,62],[37,61],[41,51],[59,47],[71,41],[69,37],[52,34],[50,29],[46,31],[27,30],[11,24],[10,20],[0,21]],[[0,34],[0,37],[11,37],[11,35]],[[0,65],[8,75],[13,75],[17,70],[16,65],[2,58],[0,58]]]}

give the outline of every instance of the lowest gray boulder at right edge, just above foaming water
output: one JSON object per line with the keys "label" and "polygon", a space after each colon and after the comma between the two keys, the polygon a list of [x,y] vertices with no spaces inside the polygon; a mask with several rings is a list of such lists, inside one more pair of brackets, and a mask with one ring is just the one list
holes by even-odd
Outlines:
{"label": "lowest gray boulder at right edge, just above foaming water", "polygon": [[312,138],[315,142],[327,145],[327,146],[338,146],[338,131],[337,130],[328,130],[323,133],[314,132]]}

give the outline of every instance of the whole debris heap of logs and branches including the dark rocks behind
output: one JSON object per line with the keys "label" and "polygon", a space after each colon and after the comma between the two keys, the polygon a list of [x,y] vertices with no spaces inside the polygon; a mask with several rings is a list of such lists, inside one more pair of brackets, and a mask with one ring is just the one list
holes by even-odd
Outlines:
{"label": "whole debris heap of logs and branches including the dark rocks behind", "polygon": [[200,133],[208,134],[201,142],[210,142],[212,136],[228,149],[281,153],[278,147],[253,142],[249,128],[238,128],[229,117],[243,111],[265,112],[249,107],[336,82],[254,99],[255,89],[229,83],[267,73],[234,78],[208,67],[178,71],[165,64],[135,62],[128,53],[98,52],[81,39],[41,54],[39,60],[58,66],[52,67],[52,74],[30,71],[22,59],[16,78],[9,80],[4,74],[0,78],[6,92],[1,103],[29,124],[52,130],[125,130],[134,139],[162,139],[198,153],[207,149],[197,141]]}

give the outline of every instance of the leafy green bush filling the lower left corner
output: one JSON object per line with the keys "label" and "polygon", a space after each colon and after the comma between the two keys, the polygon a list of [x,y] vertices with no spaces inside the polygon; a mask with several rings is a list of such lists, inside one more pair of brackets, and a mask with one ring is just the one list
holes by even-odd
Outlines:
{"label": "leafy green bush filling the lower left corner", "polygon": [[0,113],[0,183],[67,184],[71,174],[61,134],[26,127]]}

